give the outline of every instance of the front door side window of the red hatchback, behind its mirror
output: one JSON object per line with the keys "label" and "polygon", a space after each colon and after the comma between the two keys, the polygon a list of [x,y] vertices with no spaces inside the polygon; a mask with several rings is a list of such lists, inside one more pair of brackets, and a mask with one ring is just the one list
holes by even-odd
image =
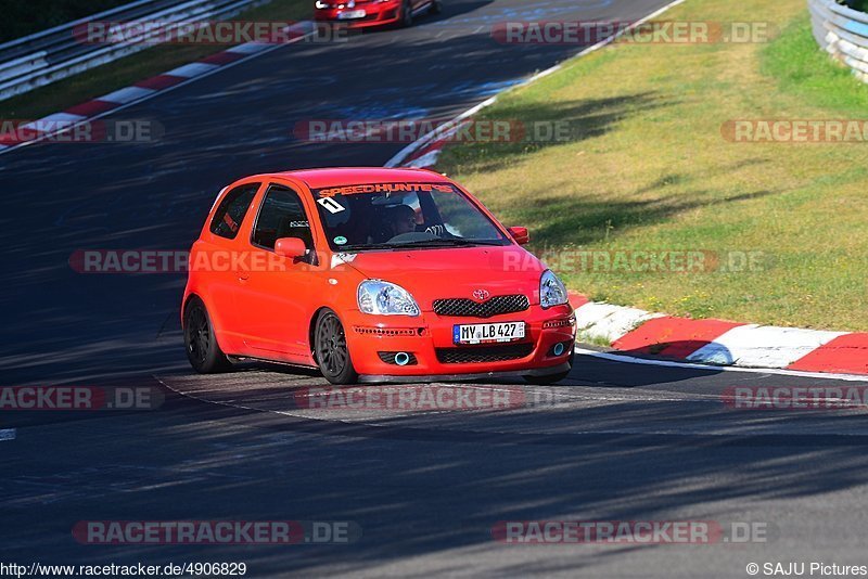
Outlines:
{"label": "front door side window of the red hatchback, behind its mirror", "polygon": [[265,194],[251,243],[273,249],[281,237],[299,237],[308,252],[314,249],[310,222],[298,194],[283,185],[271,185]]}

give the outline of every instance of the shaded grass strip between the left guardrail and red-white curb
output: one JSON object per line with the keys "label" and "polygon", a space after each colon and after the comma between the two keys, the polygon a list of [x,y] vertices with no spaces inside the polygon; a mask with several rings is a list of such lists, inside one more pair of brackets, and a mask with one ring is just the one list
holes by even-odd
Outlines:
{"label": "shaded grass strip between the left guardrail and red-white curb", "polygon": [[[232,20],[299,21],[309,18],[311,10],[310,0],[272,0],[268,4],[238,14]],[[30,92],[0,101],[0,118],[41,118],[227,48],[217,44],[161,44],[150,48]]]}

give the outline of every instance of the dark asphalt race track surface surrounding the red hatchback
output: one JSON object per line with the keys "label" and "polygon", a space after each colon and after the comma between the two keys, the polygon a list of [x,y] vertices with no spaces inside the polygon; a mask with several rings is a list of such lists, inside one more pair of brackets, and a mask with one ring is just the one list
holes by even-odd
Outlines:
{"label": "dark asphalt race track surface surrounding the red hatchback", "polygon": [[[269,364],[193,375],[183,276],[79,274],[85,248],[187,249],[244,175],[382,165],[401,146],[310,144],[315,118],[448,117],[575,52],[505,47],[506,20],[630,21],[662,1],[450,1],[408,30],[294,44],[118,113],[153,143],[39,143],[0,156],[2,384],[151,386],[152,411],[4,412],[3,555],[29,564],[245,562],[248,576],[746,577],[751,562],[868,564],[864,413],[744,411],[733,386],[865,382],[639,365],[582,355],[497,411],[347,412],[299,400],[323,381]],[[374,68],[375,67],[375,68]],[[82,545],[79,520],[346,520],[350,544]],[[500,520],[758,523],[765,541],[502,544]]]}

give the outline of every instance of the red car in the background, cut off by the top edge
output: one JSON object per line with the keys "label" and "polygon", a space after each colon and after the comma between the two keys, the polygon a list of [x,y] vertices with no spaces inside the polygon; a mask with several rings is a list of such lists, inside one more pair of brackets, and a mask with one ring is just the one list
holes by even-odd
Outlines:
{"label": "red car in the background, cut off by the top edge", "polygon": [[411,26],[425,12],[438,14],[443,0],[317,0],[319,22],[343,23],[352,28],[399,24]]}

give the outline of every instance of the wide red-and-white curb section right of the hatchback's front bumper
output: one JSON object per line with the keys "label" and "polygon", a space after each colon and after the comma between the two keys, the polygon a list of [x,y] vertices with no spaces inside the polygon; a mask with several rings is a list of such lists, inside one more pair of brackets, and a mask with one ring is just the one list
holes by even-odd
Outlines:
{"label": "wide red-and-white curb section right of the hatchback's front bumper", "polygon": [[571,294],[579,342],[631,356],[700,364],[868,374],[868,333],[691,320]]}

